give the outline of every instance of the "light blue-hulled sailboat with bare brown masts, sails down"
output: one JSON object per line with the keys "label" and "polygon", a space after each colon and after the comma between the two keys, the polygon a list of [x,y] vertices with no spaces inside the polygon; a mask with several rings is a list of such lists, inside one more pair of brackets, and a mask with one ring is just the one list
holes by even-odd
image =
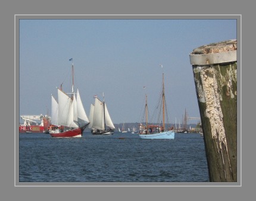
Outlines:
{"label": "light blue-hulled sailboat with bare brown masts, sails down", "polygon": [[[170,129],[166,129],[165,125],[165,107],[166,107],[166,98],[164,94],[164,74],[163,74],[163,88],[161,91],[161,101],[160,101],[160,107],[157,107],[160,109],[160,111],[163,114],[163,124],[158,125],[149,125],[148,124],[148,100],[146,95],[146,104],[145,104],[145,116],[146,116],[146,125],[142,125],[142,123],[139,125],[139,138],[141,139],[174,139],[174,130],[173,127]],[[161,110],[163,108],[163,110]]]}

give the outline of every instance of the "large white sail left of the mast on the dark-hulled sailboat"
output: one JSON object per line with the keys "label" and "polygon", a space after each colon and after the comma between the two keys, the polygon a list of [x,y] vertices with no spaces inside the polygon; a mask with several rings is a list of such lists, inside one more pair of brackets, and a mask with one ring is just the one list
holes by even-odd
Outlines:
{"label": "large white sail left of the mast on the dark-hulled sailboat", "polygon": [[104,130],[103,103],[98,98],[95,98],[92,127]]}

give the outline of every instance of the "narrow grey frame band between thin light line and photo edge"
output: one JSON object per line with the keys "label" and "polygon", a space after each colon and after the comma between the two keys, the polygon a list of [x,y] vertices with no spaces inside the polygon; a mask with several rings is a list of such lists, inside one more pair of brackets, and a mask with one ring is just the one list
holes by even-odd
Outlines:
{"label": "narrow grey frame band between thin light line and photo edge", "polygon": [[[26,183],[19,182],[18,174],[18,122],[19,122],[19,20],[22,19],[236,19],[237,20],[237,40],[238,40],[238,181],[236,183],[98,183],[98,182],[74,182],[74,183],[45,183],[35,182]],[[241,126],[241,88],[242,88],[242,62],[241,62],[241,47],[242,47],[242,15],[15,15],[15,69],[14,69],[14,84],[15,84],[15,130],[14,130],[14,186],[15,187],[216,187],[216,186],[242,186],[242,126]],[[191,50],[192,51],[192,50]],[[192,67],[191,67],[192,68]]]}

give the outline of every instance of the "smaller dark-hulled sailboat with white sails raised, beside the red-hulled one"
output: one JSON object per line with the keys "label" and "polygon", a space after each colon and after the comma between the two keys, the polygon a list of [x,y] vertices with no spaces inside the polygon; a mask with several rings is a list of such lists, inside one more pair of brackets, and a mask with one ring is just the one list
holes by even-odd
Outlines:
{"label": "smaller dark-hulled sailboat with white sails raised, beside the red-hulled one", "polygon": [[103,94],[103,102],[95,97],[95,104],[90,105],[89,119],[91,121],[89,128],[93,135],[113,135],[115,126],[108,113],[107,104]]}

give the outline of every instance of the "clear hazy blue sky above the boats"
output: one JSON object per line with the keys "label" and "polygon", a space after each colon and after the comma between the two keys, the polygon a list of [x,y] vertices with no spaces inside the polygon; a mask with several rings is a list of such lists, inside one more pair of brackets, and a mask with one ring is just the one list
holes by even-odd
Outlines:
{"label": "clear hazy blue sky above the boats", "polygon": [[102,100],[104,92],[113,123],[140,122],[145,94],[153,114],[163,73],[170,123],[182,123],[185,109],[189,117],[200,117],[189,54],[205,44],[236,39],[237,29],[234,19],[39,19],[19,25],[20,115],[51,116],[56,87],[63,84],[71,92],[73,62],[74,88],[87,116],[93,96]]}

